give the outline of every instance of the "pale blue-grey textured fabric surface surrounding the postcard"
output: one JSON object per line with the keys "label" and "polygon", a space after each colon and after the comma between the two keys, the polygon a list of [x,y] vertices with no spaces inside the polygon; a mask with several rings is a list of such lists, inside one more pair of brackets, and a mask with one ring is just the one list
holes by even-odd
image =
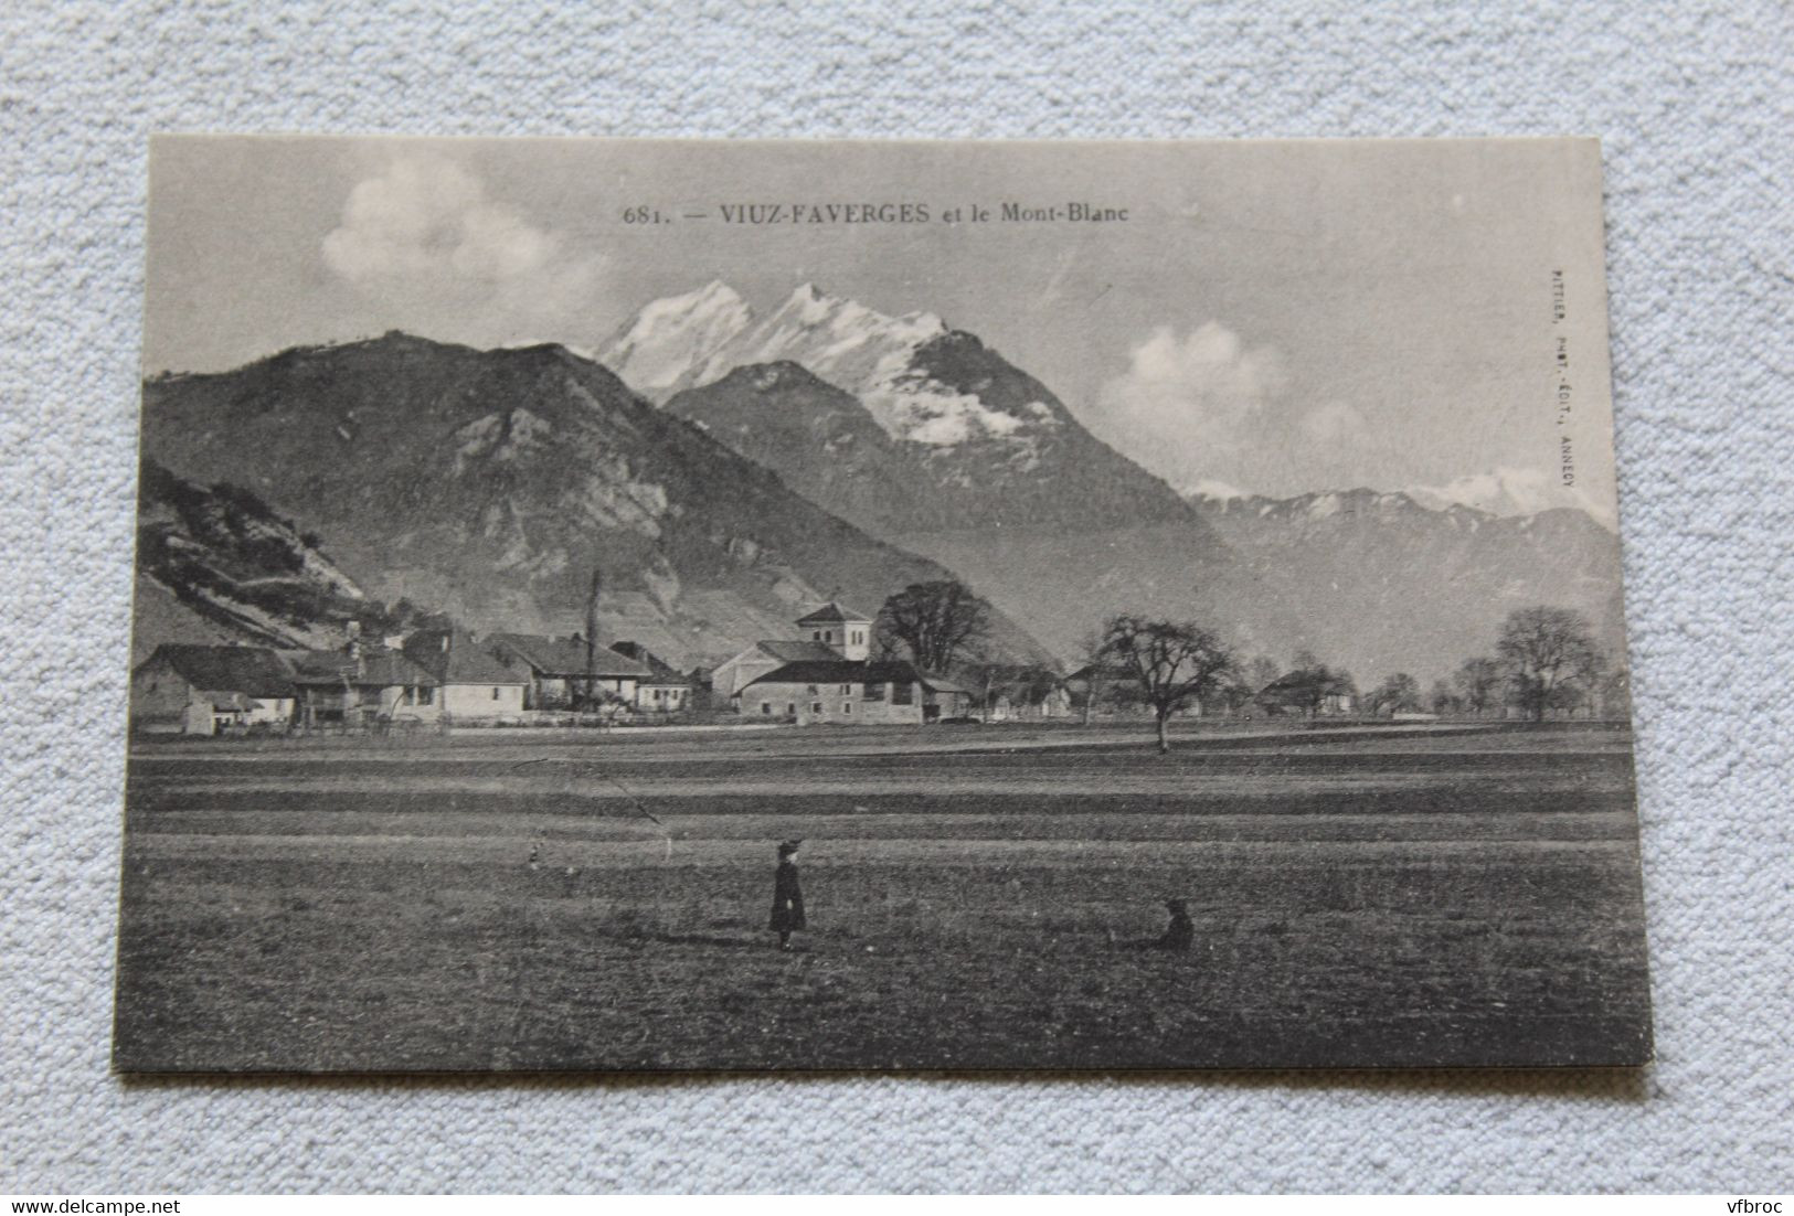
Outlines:
{"label": "pale blue-grey textured fabric surface surrounding the postcard", "polygon": [[[1794,18],[1399,9],[0,5],[0,1189],[1794,1187]],[[152,129],[1602,136],[1658,1065],[113,1080]]]}

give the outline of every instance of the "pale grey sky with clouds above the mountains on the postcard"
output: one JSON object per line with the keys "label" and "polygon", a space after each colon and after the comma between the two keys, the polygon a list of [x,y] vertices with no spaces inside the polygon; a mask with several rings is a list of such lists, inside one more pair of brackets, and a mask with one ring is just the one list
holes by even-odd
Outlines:
{"label": "pale grey sky with clouds above the mountains on the postcard", "polygon": [[[1005,221],[1005,203],[1062,215]],[[1073,221],[1071,203],[1127,219]],[[748,204],[927,221],[723,222]],[[640,210],[660,222],[631,222]],[[761,310],[813,282],[935,312],[1179,488],[1426,490],[1613,518],[1588,140],[165,136],[144,369],[395,328],[592,352],[644,303],[718,278]]]}

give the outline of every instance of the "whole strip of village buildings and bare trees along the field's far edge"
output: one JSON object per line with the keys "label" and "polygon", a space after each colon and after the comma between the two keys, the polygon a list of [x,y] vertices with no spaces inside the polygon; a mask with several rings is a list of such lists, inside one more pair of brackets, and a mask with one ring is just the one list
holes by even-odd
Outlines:
{"label": "whole strip of village buildings and bare trees along the field's far edge", "polygon": [[[1161,674],[1143,680],[1114,649],[1069,674],[1042,664],[953,662],[951,649],[935,649],[945,662],[924,665],[913,660],[926,646],[911,644],[911,658],[902,658],[877,626],[877,617],[829,601],[795,619],[791,637],[764,638],[716,667],[684,673],[628,640],[606,646],[581,633],[477,635],[459,626],[364,638],[348,622],[339,649],[161,644],[131,673],[131,730],[283,737],[495,726],[1545,716],[1543,703],[1539,714],[1520,705],[1511,696],[1512,673],[1487,658],[1466,660],[1455,680],[1459,692],[1439,682],[1430,703],[1405,674],[1360,694],[1347,673],[1306,653],[1288,671],[1267,658],[1240,665],[1224,653],[1213,673],[1168,696]],[[1552,698],[1552,716],[1598,717],[1624,696],[1613,673],[1595,674],[1606,678],[1584,678],[1586,687],[1566,678]]]}

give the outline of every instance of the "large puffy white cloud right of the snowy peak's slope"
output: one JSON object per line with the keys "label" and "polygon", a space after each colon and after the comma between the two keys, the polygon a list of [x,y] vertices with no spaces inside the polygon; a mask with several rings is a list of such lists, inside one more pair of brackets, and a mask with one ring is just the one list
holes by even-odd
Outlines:
{"label": "large puffy white cloud right of the snowy peak's slope", "polygon": [[1161,325],[1098,393],[1105,439],[1173,484],[1238,475],[1267,445],[1265,414],[1288,377],[1274,346],[1250,346],[1218,321],[1184,337]]}

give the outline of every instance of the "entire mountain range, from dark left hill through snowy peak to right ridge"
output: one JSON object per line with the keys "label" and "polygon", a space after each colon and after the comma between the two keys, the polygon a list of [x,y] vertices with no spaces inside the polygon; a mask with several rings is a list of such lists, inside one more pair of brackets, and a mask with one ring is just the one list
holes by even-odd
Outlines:
{"label": "entire mountain range, from dark left hill through snowy peak to right ridge", "polygon": [[[723,283],[653,301],[597,359],[388,334],[158,377],[144,452],[266,500],[355,594],[472,628],[570,633],[596,565],[606,635],[682,667],[936,578],[994,603],[1010,658],[1073,665],[1116,612],[1277,662],[1310,649],[1362,683],[1444,676],[1534,603],[1620,640],[1613,533],[1512,513],[1507,470],[1179,495],[974,334],[811,285],[764,316]],[[1453,500],[1471,490],[1503,513]]]}

